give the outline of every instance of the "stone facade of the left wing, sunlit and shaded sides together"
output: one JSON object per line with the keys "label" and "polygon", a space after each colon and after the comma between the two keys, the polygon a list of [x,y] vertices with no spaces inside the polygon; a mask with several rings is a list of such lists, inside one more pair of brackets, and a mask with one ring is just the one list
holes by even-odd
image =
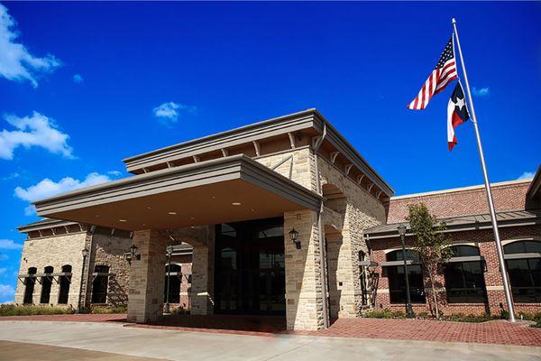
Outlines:
{"label": "stone facade of the left wing, sunlit and shaded sides together", "polygon": [[[53,274],[61,273],[62,266],[71,266],[69,297],[67,303],[59,303],[60,277],[52,276],[50,288],[51,305],[66,305],[78,308],[79,289],[81,291],[81,306],[92,304],[92,282],[96,265],[109,267],[107,282],[106,304],[111,306],[127,305],[127,290],[129,283],[129,264],[124,259],[132,239],[128,232],[113,232],[107,228],[94,228],[84,225],[68,227],[43,228],[40,232],[29,232],[23,245],[22,261],[19,274],[28,273],[30,267],[37,268],[37,273],[43,273],[45,267],[53,267]],[[85,259],[83,273],[82,250],[89,254]],[[82,286],[81,286],[82,282]],[[19,282],[15,294],[15,303],[23,303],[25,285]],[[32,303],[40,303],[41,283],[35,282]]]}

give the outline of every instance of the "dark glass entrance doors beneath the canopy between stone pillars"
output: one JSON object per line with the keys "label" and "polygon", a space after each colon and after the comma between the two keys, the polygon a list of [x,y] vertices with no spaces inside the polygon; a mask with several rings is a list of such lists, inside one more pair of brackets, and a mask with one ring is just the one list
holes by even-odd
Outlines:
{"label": "dark glass entrance doors beneath the canopy between stone pillars", "polygon": [[216,227],[216,313],[285,313],[283,219]]}

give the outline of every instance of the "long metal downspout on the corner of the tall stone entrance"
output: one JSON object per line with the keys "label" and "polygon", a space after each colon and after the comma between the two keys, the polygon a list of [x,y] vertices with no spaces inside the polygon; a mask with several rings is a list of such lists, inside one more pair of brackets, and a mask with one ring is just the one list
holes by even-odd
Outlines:
{"label": "long metal downspout on the corner of the tall stone entrance", "polygon": [[[314,151],[314,162],[316,162],[316,191],[319,195],[323,197],[323,190],[321,187],[321,180],[319,179],[319,165],[317,162],[317,152],[319,151],[319,147],[321,144],[323,144],[323,141],[326,137],[326,122],[323,122],[323,134],[321,135],[321,138],[319,138],[314,144],[313,151]],[[319,213],[317,215],[317,233],[319,235],[319,263],[320,263],[320,269],[321,269],[321,290],[323,292],[323,327],[324,329],[328,329],[329,327],[329,314],[328,314],[328,291],[327,291],[327,274],[326,274],[326,244],[325,244],[325,236],[323,236],[323,198],[320,201],[319,205]]]}

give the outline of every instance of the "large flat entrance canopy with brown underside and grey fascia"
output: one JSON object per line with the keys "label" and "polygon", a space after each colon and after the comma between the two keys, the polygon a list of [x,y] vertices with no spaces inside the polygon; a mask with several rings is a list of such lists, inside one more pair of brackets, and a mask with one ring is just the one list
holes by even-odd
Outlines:
{"label": "large flat entrance canopy with brown underside and grey fascia", "polygon": [[115,180],[34,203],[38,216],[174,229],[318,210],[321,196],[240,154]]}

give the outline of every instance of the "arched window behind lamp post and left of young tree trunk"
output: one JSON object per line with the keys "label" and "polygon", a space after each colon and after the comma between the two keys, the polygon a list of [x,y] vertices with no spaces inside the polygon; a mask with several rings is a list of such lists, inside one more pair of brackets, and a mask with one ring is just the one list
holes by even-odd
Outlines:
{"label": "arched window behind lamp post and left of young tree trunk", "polygon": [[[413,261],[408,264],[409,294],[412,303],[425,303],[425,284],[423,283],[423,271],[419,262],[419,255],[409,249],[406,250],[406,259]],[[402,250],[387,254],[387,261],[403,261]],[[406,278],[403,265],[385,267],[389,279],[390,303],[406,302]]]}

